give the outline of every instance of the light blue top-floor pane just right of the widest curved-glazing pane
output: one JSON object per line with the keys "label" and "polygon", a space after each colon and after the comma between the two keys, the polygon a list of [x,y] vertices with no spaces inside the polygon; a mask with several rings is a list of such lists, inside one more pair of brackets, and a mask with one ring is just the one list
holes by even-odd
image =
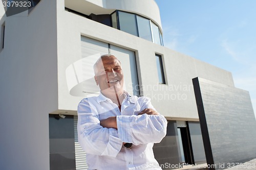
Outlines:
{"label": "light blue top-floor pane just right of the widest curved-glazing pane", "polygon": [[137,15],[137,23],[139,30],[139,37],[152,41],[150,20],[144,17]]}

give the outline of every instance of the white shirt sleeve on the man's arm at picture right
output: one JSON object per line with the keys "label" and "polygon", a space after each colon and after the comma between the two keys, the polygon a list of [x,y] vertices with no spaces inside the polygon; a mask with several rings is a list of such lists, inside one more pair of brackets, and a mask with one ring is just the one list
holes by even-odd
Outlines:
{"label": "white shirt sleeve on the man's arm at picture right", "polygon": [[[152,108],[150,99],[139,101],[141,110]],[[155,109],[154,109],[155,110]],[[121,115],[117,116],[117,129],[119,138],[123,142],[135,145],[145,143],[159,143],[166,135],[167,120],[163,115]]]}

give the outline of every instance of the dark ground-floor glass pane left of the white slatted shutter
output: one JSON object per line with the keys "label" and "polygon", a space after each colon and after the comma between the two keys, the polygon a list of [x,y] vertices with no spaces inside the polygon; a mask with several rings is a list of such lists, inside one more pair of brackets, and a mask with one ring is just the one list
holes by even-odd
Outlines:
{"label": "dark ground-floor glass pane left of the white slatted shutter", "polygon": [[75,169],[74,116],[49,115],[50,169]]}

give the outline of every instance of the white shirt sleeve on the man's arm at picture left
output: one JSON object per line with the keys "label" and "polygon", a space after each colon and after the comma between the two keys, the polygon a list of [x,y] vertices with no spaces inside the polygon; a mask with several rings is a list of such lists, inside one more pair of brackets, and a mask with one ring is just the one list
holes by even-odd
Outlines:
{"label": "white shirt sleeve on the man's arm at picture left", "polygon": [[118,131],[100,126],[97,111],[88,99],[79,103],[77,114],[78,142],[81,148],[89,154],[116,157],[122,147]]}

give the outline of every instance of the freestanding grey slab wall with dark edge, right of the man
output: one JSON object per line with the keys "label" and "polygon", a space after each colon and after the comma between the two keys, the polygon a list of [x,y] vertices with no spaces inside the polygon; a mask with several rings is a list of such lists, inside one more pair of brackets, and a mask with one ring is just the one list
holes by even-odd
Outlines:
{"label": "freestanding grey slab wall with dark edge, right of the man", "polygon": [[216,166],[209,169],[256,158],[256,121],[248,91],[201,78],[193,82],[207,164]]}

